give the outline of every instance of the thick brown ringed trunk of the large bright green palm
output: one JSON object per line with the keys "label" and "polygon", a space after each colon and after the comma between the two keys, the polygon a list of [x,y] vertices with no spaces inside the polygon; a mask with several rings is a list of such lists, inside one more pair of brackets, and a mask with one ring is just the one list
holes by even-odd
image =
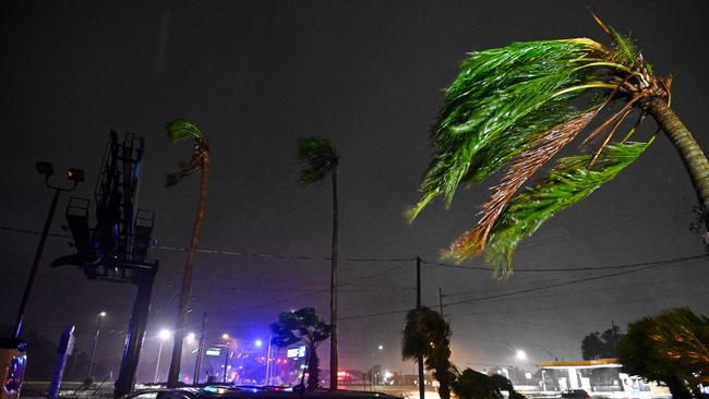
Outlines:
{"label": "thick brown ringed trunk of the large bright green palm", "polygon": [[654,117],[658,124],[670,141],[680,152],[680,157],[687,168],[694,189],[699,198],[701,215],[707,230],[709,230],[709,161],[707,156],[694,140],[694,136],[682,123],[676,113],[662,98],[654,98],[648,104],[650,114]]}

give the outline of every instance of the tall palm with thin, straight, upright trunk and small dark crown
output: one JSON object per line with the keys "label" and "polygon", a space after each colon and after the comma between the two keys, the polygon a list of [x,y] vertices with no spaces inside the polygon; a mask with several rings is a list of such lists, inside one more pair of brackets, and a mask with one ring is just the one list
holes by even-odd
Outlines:
{"label": "tall palm with thin, straight, upright trunk and small dark crown", "polygon": [[321,137],[298,140],[298,159],[300,161],[300,182],[303,184],[322,183],[329,174],[333,182],[333,241],[329,274],[329,387],[337,389],[337,167],[339,156],[329,141]]}

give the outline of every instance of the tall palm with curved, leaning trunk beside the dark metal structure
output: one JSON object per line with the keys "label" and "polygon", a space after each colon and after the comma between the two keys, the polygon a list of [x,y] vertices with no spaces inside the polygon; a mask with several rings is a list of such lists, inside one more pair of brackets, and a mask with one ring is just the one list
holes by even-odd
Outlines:
{"label": "tall palm with curved, leaning trunk beside the dark metal structure", "polygon": [[188,301],[192,287],[192,270],[194,268],[194,257],[200,243],[200,233],[206,213],[207,188],[209,186],[209,145],[207,138],[202,134],[200,129],[193,123],[183,119],[177,119],[169,122],[166,126],[168,141],[179,143],[185,140],[192,140],[194,150],[190,164],[183,166],[179,172],[168,174],[166,186],[172,186],[179,183],[183,178],[200,172],[202,181],[200,182],[200,202],[197,205],[197,215],[192,228],[192,239],[188,247],[188,256],[182,276],[182,289],[180,290],[180,302],[178,304],[178,315],[175,329],[175,342],[172,344],[172,358],[170,361],[170,373],[168,375],[168,386],[175,387],[179,383],[180,361],[182,358],[182,339],[184,337],[184,325],[187,322]]}

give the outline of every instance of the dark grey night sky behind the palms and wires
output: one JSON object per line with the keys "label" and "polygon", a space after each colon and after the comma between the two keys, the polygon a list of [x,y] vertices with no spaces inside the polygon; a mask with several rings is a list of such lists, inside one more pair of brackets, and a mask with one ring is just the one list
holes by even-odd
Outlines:
{"label": "dark grey night sky behind the palms and wires", "polygon": [[[160,245],[185,245],[196,208],[197,179],[172,189],[165,173],[189,156],[169,146],[165,122],[184,117],[209,137],[213,173],[202,247],[260,254],[326,256],[329,184],[297,183],[296,140],[331,138],[341,155],[340,253],[344,257],[437,258],[471,227],[488,194],[460,193],[449,210],[436,203],[412,226],[401,216],[417,201],[428,165],[428,129],[441,88],[466,51],[513,40],[589,36],[605,40],[589,15],[629,32],[660,74],[676,73],[672,105],[699,143],[709,147],[705,78],[709,63],[706,1],[230,1],[5,2],[0,61],[4,152],[0,225],[39,230],[50,192],[36,160],[84,168],[76,195],[93,195],[108,129],[146,137],[141,206],[155,209]],[[652,134],[648,120],[641,135]],[[60,203],[52,231],[64,223]],[[689,231],[696,197],[664,136],[618,179],[562,211],[527,240],[520,270],[497,281],[486,271],[423,268],[424,302],[444,303],[600,276],[613,270],[521,273],[530,268],[602,267],[701,254]],[[11,324],[37,237],[0,231],[0,322]],[[79,326],[88,347],[95,315],[109,313],[107,331],[125,329],[134,290],[85,280],[74,268],[50,269],[71,249],[50,239],[27,328],[57,337]],[[153,251],[161,263],[145,359],[155,331],[172,324],[183,253]],[[482,266],[481,259],[468,265]],[[327,261],[200,255],[190,324],[215,312],[209,331],[265,338],[277,314],[314,306],[327,315]],[[641,316],[688,305],[709,313],[706,261],[647,270],[504,299],[449,305],[454,362],[481,368],[530,364],[551,351],[580,358],[580,340],[611,321],[625,327]],[[364,278],[372,276],[370,278]],[[407,310],[414,302],[414,263],[343,262],[344,318]],[[303,297],[317,290],[321,293]],[[292,299],[295,297],[303,297]],[[289,300],[290,299],[290,300]],[[264,304],[272,304],[264,306]],[[341,364],[399,361],[402,314],[340,322]],[[106,335],[99,358],[118,358],[122,336]],[[382,343],[382,353],[372,353]],[[546,350],[546,351],[545,351]],[[323,347],[326,358],[326,344]],[[376,356],[380,356],[378,359]],[[326,362],[326,359],[323,359]],[[326,364],[326,363],[323,363]],[[407,363],[408,364],[408,363]]]}

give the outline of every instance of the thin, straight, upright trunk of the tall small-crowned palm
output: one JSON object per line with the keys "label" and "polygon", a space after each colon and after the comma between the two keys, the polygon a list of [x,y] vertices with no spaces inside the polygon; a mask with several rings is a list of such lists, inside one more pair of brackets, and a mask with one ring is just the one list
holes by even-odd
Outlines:
{"label": "thin, straight, upright trunk of the tall small-crowned palm", "polygon": [[337,230],[338,230],[338,206],[337,206],[337,171],[336,161],[333,168],[333,245],[332,267],[329,276],[329,324],[333,331],[329,336],[329,387],[337,389],[337,370],[339,367],[337,356]]}

